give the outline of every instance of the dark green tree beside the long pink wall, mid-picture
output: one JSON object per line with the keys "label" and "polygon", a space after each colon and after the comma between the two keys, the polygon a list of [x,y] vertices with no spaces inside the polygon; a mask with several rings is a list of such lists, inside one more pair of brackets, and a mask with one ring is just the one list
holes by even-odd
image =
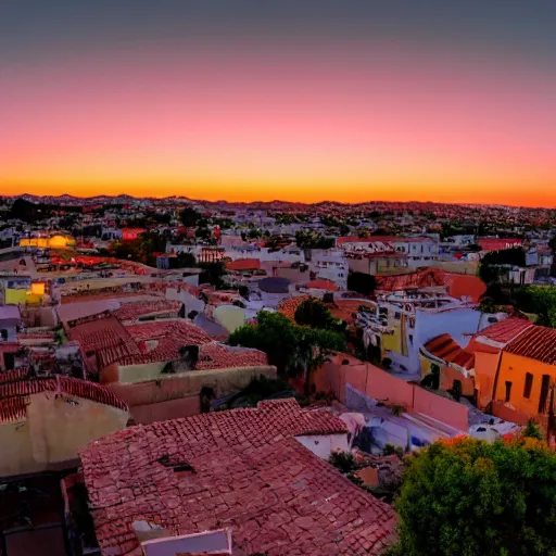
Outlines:
{"label": "dark green tree beside the long pink wall, mid-picture", "polygon": [[231,345],[256,348],[268,355],[282,376],[306,374],[307,381],[330,351],[344,351],[342,334],[306,326],[298,326],[279,313],[261,311],[256,325],[243,325],[228,338]]}

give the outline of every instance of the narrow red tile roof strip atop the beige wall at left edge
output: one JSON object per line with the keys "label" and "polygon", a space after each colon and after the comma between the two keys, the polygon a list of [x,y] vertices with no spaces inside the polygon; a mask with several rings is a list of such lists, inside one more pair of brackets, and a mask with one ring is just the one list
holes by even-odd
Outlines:
{"label": "narrow red tile roof strip atop the beige wall at left edge", "polygon": [[29,396],[41,392],[59,392],[129,410],[124,400],[100,384],[65,377],[27,379],[26,371],[14,371],[2,375],[0,381],[0,421],[24,417]]}

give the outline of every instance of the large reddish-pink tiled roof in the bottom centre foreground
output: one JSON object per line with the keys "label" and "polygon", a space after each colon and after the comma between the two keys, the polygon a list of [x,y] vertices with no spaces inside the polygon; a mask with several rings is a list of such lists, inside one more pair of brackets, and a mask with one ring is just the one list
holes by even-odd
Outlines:
{"label": "large reddish-pink tiled roof in the bottom centre foreground", "polygon": [[151,519],[173,534],[231,527],[244,554],[379,554],[392,508],[292,438],[344,431],[328,412],[287,400],[89,443],[80,457],[100,547],[141,554],[131,523]]}

